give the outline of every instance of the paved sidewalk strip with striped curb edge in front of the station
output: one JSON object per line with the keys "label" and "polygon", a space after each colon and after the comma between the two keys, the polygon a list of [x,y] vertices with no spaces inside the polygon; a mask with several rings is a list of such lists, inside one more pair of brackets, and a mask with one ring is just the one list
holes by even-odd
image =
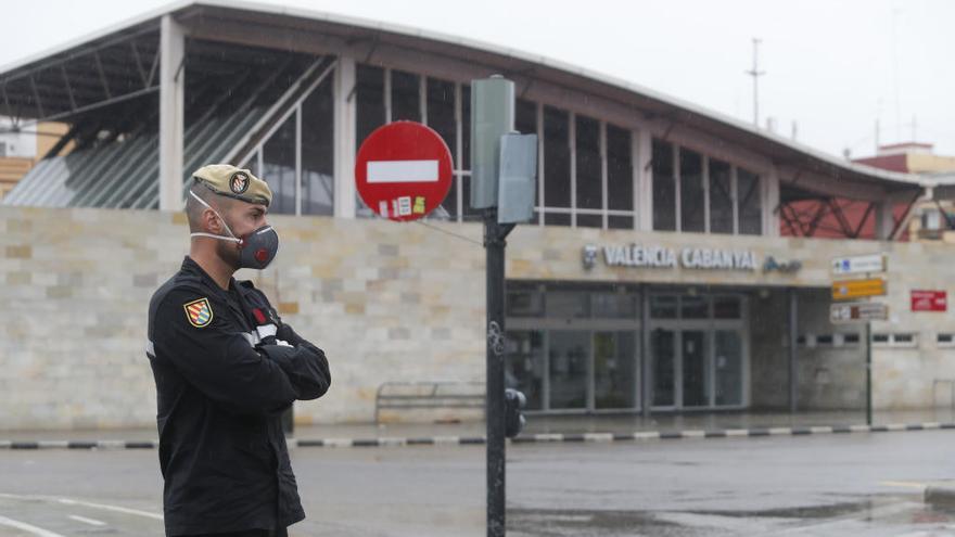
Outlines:
{"label": "paved sidewalk strip with striped curb edge in front of the station", "polygon": [[[948,429],[955,423],[950,409],[879,412],[874,432]],[[519,442],[588,442],[634,438],[692,438],[723,436],[766,436],[767,434],[816,434],[868,432],[865,412],[700,412],[684,414],[553,417],[530,415]],[[406,444],[480,444],[484,422],[390,423],[302,425],[291,438],[301,446],[377,446]],[[654,434],[655,433],[655,434]],[[42,443],[41,447],[133,447],[151,448],[155,429],[7,431],[0,432],[0,446]],[[102,442],[102,445],[97,443]],[[60,443],[60,445],[54,445]],[[67,446],[67,443],[77,444]],[[130,444],[125,446],[124,444]]]}

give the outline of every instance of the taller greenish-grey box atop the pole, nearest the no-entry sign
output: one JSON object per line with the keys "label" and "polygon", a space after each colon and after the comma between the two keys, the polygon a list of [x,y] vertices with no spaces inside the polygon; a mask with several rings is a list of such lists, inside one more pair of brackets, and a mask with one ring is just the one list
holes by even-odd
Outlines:
{"label": "taller greenish-grey box atop the pole, nearest the no-entry sign", "polygon": [[497,206],[500,137],[514,130],[514,82],[500,75],[471,82],[471,208]]}

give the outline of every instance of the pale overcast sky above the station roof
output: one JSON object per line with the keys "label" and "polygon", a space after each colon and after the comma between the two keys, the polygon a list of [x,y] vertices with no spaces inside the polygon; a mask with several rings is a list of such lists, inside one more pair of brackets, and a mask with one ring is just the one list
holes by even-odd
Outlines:
{"label": "pale overcast sky above the station roof", "polygon": [[[829,153],[918,141],[955,155],[955,2],[262,0],[460,35],[546,55],[752,120]],[[162,0],[5,2],[0,66],[154,10]],[[894,35],[894,38],[893,38]],[[893,62],[897,57],[897,62]],[[897,89],[897,91],[896,91]]]}

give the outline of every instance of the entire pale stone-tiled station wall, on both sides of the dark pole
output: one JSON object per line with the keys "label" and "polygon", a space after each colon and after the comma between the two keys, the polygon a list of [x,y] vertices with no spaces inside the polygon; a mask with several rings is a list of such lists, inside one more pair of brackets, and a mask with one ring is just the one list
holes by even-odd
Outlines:
{"label": "entire pale stone-tiled station wall, on both sides of the dark pole", "polygon": [[[332,388],[296,404],[298,423],[367,422],[384,382],[484,380],[484,251],[478,223],[394,223],[271,216],[281,250],[251,278],[283,319],[322,347]],[[607,267],[585,269],[586,244],[748,248],[762,259],[798,259],[795,273]],[[829,260],[883,251],[890,256],[892,319],[876,333],[916,333],[915,348],[874,353],[876,408],[951,404],[953,311],[908,311],[913,289],[955,293],[951,245],[733,238],[520,226],[508,239],[508,278],[736,285],[752,298],[753,404],[785,405],[784,290],[801,287],[801,332],[828,324]],[[145,358],[147,307],[188,250],[183,215],[155,210],[0,207],[0,429],[151,426],[155,391]],[[243,273],[244,272],[244,273]],[[816,290],[816,291],[810,291]],[[775,334],[773,333],[775,331]],[[805,408],[861,402],[862,347],[801,348]],[[760,393],[756,386],[780,386]]]}

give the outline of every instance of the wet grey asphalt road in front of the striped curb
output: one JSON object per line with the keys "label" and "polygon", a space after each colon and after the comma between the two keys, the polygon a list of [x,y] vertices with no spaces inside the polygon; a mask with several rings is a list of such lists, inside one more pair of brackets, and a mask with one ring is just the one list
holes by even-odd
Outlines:
{"label": "wet grey asphalt road in front of the striped curb", "polygon": [[[953,451],[952,431],[511,446],[508,535],[955,536],[921,502]],[[480,446],[292,459],[292,536],[484,535]],[[161,490],[153,450],[0,451],[0,535],[161,536]]]}

